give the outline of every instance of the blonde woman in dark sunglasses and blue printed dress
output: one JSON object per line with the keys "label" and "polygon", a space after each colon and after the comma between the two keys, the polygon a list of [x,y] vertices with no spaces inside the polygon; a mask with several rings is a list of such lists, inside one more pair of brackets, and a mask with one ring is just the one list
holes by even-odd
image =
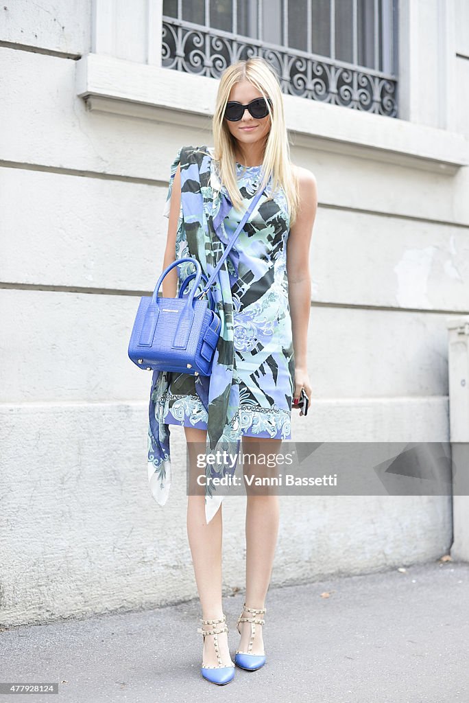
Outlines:
{"label": "blonde woman in dark sunglasses and blue printed dress", "polygon": [[[223,72],[213,145],[181,147],[173,161],[164,269],[176,259],[196,257],[209,276],[251,198],[258,188],[267,190],[213,288],[222,328],[211,376],[154,372],[149,477],[161,505],[171,485],[169,425],[185,428],[195,483],[194,446],[208,442],[213,447],[242,437],[246,452],[260,444],[275,452],[282,439],[291,438],[291,410],[298,407],[302,388],[311,401],[309,260],[317,186],[308,169],[291,164],[282,91],[263,58],[241,60]],[[187,262],[175,266],[164,278],[164,297],[176,297],[193,270]],[[190,491],[187,501],[187,533],[202,607],[202,676],[217,684],[232,681],[235,664],[255,671],[266,659],[263,616],[279,499],[254,494],[247,486],[246,491],[246,595],[234,662],[222,605],[223,496],[212,486]]]}

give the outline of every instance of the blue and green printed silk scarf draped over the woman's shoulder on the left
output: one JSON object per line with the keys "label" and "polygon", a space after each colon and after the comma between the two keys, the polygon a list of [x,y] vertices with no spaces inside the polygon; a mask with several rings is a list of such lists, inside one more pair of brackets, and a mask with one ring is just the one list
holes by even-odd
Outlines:
{"label": "blue and green printed silk scarf draped over the woman's shoulder on the left", "polygon": [[[223,219],[232,209],[232,202],[222,186],[215,163],[206,146],[181,147],[171,165],[169,192],[165,214],[169,215],[169,202],[176,169],[180,163],[181,207],[176,236],[176,258],[194,257],[202,271],[210,276],[216,268],[228,243]],[[239,383],[234,356],[233,302],[231,288],[237,280],[239,257],[233,247],[218,272],[217,285],[212,286],[215,309],[221,320],[220,339],[213,357],[211,376],[198,376],[195,387],[208,412],[206,453],[228,451],[239,453],[241,419],[239,417]],[[185,262],[176,266],[178,292],[180,283],[195,267]],[[187,289],[194,284],[190,281]],[[185,294],[188,290],[185,290]],[[161,288],[160,288],[161,292]],[[148,427],[148,480],[150,491],[159,505],[164,505],[171,487],[171,456],[169,425],[163,421],[164,401],[169,388],[168,373],[153,372],[150,389]],[[207,465],[206,477],[223,478],[233,475],[234,466],[223,463]],[[218,489],[218,493],[217,493]],[[226,486],[223,491],[226,492]],[[223,501],[220,486],[208,483],[205,489],[205,515],[210,522]]]}

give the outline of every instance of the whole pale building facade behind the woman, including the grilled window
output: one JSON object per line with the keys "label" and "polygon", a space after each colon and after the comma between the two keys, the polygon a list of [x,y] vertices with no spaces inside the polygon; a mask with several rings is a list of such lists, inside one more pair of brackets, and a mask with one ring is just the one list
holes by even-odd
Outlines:
{"label": "whole pale building facade behind the woman, including the grilled window", "polygon": [[[0,8],[5,624],[197,595],[174,482],[147,488],[169,166],[211,143],[217,77],[260,54],[316,176],[308,417],[297,441],[449,441],[447,320],[469,310],[465,0],[27,0]],[[225,545],[244,501],[225,501]],[[171,527],[170,527],[171,526]],[[440,557],[450,496],[286,496],[272,586]],[[243,586],[227,550],[225,592]]]}

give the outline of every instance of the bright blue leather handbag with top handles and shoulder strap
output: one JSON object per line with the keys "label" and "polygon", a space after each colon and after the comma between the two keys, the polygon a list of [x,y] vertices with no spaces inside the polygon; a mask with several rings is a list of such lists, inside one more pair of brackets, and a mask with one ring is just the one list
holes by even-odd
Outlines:
{"label": "bright blue leather handbag with top handles and shoulder strap", "polygon": [[[221,326],[213,303],[211,285],[264,190],[265,188],[259,188],[251,200],[209,279],[194,257],[177,259],[159,276],[152,297],[143,296],[140,299],[128,344],[128,356],[138,368],[176,371],[195,376],[210,375]],[[192,262],[196,267],[195,273],[191,273],[181,283],[178,297],[159,297],[159,287],[166,274],[183,262]],[[193,278],[194,285],[189,295],[183,297],[187,284]],[[201,279],[204,280],[204,288],[195,295]],[[204,294],[209,298],[200,300]]]}

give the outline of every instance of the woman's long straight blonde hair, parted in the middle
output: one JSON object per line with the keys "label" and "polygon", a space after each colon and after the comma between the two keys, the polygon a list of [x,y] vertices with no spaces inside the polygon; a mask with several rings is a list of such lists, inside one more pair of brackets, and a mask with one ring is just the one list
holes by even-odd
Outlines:
{"label": "woman's long straight blonde hair, parted in the middle", "polygon": [[242,80],[249,80],[264,98],[268,97],[272,101],[272,106],[267,101],[271,127],[265,140],[263,185],[265,186],[272,174],[272,190],[266,191],[270,199],[272,193],[282,186],[289,207],[290,225],[292,225],[298,212],[298,178],[290,160],[282,90],[277,74],[260,56],[237,61],[227,67],[220,77],[212,120],[213,158],[217,162],[220,181],[227,189],[232,205],[236,209],[242,209],[243,200],[237,184],[235,141],[223,119],[232,86]]}

